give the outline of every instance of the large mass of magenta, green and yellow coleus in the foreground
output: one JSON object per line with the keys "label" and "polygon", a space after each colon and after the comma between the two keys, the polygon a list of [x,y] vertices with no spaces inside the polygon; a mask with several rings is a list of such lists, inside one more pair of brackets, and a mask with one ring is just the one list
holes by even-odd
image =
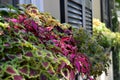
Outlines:
{"label": "large mass of magenta, green and yellow coleus in the foreground", "polygon": [[74,80],[82,73],[91,80],[90,61],[78,52],[71,27],[31,4],[23,8],[0,21],[0,78]]}

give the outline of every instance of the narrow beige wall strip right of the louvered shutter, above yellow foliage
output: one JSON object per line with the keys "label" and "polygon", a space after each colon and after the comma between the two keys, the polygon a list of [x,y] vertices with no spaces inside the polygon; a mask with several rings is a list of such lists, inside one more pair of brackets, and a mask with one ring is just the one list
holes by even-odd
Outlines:
{"label": "narrow beige wall strip right of the louvered shutter, above yellow foliage", "polygon": [[93,0],[93,17],[101,20],[100,0]]}

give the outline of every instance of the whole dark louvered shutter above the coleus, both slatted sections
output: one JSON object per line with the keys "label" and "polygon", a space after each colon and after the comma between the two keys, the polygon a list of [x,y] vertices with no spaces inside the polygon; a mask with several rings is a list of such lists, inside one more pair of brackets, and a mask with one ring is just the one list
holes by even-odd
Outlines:
{"label": "whole dark louvered shutter above the coleus, both slatted sections", "polygon": [[92,33],[92,0],[60,0],[61,22]]}

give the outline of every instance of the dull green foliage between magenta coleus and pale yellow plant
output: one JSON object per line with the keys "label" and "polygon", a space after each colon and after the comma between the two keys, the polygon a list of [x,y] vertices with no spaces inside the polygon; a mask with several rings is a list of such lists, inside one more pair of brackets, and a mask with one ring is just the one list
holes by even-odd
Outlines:
{"label": "dull green foliage between magenta coleus and pale yellow plant", "polygon": [[85,53],[91,61],[90,75],[97,77],[103,71],[107,73],[110,64],[109,52],[105,52],[104,47],[84,29],[74,29],[73,32],[79,52]]}

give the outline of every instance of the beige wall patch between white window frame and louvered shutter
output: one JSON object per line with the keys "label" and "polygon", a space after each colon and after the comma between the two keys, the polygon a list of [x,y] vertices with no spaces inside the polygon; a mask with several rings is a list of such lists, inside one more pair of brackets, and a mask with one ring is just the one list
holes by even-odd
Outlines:
{"label": "beige wall patch between white window frame and louvered shutter", "polygon": [[60,2],[59,0],[43,0],[44,12],[49,12],[55,18],[60,20]]}

